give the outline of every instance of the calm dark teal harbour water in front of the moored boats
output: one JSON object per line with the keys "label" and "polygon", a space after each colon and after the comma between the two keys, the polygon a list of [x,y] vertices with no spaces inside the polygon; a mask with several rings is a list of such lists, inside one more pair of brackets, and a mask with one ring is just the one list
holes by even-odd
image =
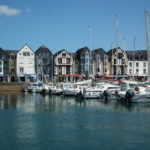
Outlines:
{"label": "calm dark teal harbour water in front of the moored boats", "polygon": [[0,150],[149,150],[150,104],[0,93]]}

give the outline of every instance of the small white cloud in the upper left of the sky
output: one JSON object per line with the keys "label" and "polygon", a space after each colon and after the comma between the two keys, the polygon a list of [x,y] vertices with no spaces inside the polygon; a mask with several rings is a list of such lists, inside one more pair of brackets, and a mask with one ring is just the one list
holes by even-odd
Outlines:
{"label": "small white cloud in the upper left of the sky", "polygon": [[21,10],[10,8],[7,5],[0,5],[0,15],[15,16],[21,13]]}

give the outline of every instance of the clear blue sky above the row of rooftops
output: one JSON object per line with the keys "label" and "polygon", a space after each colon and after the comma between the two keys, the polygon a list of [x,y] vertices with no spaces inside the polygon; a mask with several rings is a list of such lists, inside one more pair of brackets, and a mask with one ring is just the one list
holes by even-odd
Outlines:
{"label": "clear blue sky above the row of rooftops", "polygon": [[0,0],[0,47],[144,50],[145,10],[150,0]]}

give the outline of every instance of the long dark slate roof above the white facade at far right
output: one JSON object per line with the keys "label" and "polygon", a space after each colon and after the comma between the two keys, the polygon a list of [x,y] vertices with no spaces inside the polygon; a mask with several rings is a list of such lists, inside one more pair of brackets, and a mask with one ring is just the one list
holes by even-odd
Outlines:
{"label": "long dark slate roof above the white facade at far right", "polygon": [[129,61],[147,61],[147,50],[126,51]]}

